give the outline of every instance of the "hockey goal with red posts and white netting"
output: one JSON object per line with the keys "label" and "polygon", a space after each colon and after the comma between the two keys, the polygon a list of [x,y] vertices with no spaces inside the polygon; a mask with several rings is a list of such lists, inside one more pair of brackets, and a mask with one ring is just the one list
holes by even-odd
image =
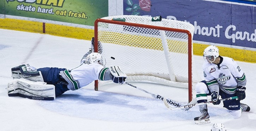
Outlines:
{"label": "hockey goal with red posts and white netting", "polygon": [[[113,18],[124,18],[115,21]],[[119,66],[126,80],[147,80],[172,87],[188,88],[192,100],[198,75],[193,68],[194,26],[187,22],[151,17],[120,15],[97,19],[95,41],[102,44],[102,58]],[[98,51],[98,43],[94,42]],[[111,59],[114,57],[115,59]],[[95,81],[95,90],[106,81]]]}

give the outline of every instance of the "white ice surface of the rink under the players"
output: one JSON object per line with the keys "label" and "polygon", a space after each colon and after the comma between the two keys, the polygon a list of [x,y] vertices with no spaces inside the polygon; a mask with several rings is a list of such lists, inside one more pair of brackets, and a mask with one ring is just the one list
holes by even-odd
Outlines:
{"label": "white ice surface of the rink under the players", "polygon": [[[107,84],[93,90],[93,84],[67,91],[54,101],[8,97],[11,68],[21,63],[31,66],[74,68],[90,47],[90,41],[0,29],[0,130],[1,131],[210,131],[223,123],[228,131],[256,129],[255,63],[237,61],[246,73],[246,99],[251,107],[233,119],[222,104],[208,104],[210,124],[196,125],[198,107],[189,111],[167,110],[162,101],[128,85]],[[203,58],[196,56],[201,73]],[[152,93],[186,102],[186,89],[173,89],[154,83],[130,83]]]}

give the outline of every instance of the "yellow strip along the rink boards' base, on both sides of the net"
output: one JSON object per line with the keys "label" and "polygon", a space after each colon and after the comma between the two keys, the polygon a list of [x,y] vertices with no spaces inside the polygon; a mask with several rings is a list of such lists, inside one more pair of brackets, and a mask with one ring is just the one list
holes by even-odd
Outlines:
{"label": "yellow strip along the rink boards' base, on both sides of the net", "polygon": [[[9,18],[0,18],[0,28],[7,30],[25,31],[32,33],[43,33],[43,23],[28,21],[28,20],[18,20]],[[94,30],[64,26],[57,24],[45,24],[45,33],[50,35],[56,35],[60,37],[69,37],[75,39],[91,40],[94,37]],[[203,50],[209,45],[194,43],[193,52],[194,55],[203,55]],[[256,63],[256,51],[243,50],[230,47],[217,46],[220,50],[220,55],[231,57],[234,60],[246,61],[251,63]]]}

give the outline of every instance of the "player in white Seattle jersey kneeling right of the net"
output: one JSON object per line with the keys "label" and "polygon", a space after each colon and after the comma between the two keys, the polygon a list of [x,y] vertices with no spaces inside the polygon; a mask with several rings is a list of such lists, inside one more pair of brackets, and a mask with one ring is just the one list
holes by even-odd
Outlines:
{"label": "player in white Seattle jersey kneeling right of the net", "polygon": [[[238,97],[223,101],[225,107],[233,118],[239,118],[244,111],[250,111],[250,107],[240,103],[245,99],[246,77],[242,69],[232,58],[219,55],[218,47],[211,45],[204,49],[203,57],[206,60],[203,64],[205,80],[196,85],[197,103],[207,101],[207,96],[212,98],[214,105],[221,103],[222,99]],[[195,117],[196,124],[210,123],[210,116],[207,104],[199,105],[200,116]]]}

